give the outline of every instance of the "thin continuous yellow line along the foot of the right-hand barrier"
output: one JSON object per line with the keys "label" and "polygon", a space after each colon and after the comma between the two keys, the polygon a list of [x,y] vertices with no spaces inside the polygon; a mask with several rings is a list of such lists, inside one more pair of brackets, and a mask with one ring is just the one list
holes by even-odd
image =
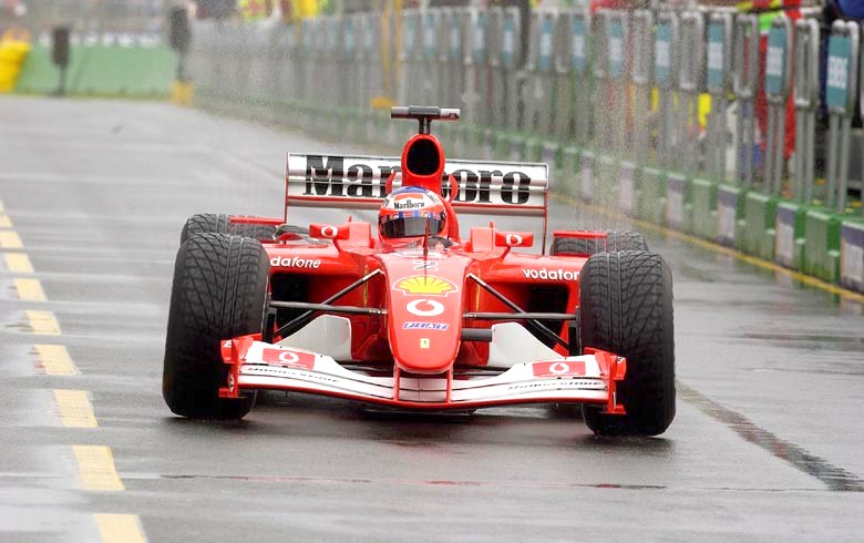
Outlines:
{"label": "thin continuous yellow line along the foot of the right-hand barrier", "polygon": [[840,296],[841,298],[852,300],[852,301],[861,301],[864,303],[864,294],[855,293],[853,290],[845,289],[843,287],[840,287],[837,285],[832,285],[831,283],[823,281],[822,279],[819,279],[816,277],[812,277],[805,274],[802,274],[800,272],[795,272],[794,269],[784,268],[783,266],[779,264],[774,264],[769,260],[763,260],[761,258],[758,258],[755,256],[748,255],[745,253],[742,253],[738,249],[733,249],[731,247],[727,247],[724,245],[716,244],[713,242],[709,242],[707,239],[702,239],[700,237],[691,236],[690,234],[685,234],[682,232],[673,230],[670,228],[667,228],[665,226],[660,226],[654,223],[649,223],[648,221],[641,221],[639,218],[634,218],[628,215],[625,215],[623,213],[613,212],[609,209],[606,209],[604,207],[594,205],[594,204],[586,204],[585,202],[577,201],[573,198],[572,196],[566,196],[563,194],[555,194],[553,195],[553,198],[563,203],[563,204],[570,204],[576,206],[585,207],[592,212],[598,213],[600,215],[606,215],[608,217],[618,218],[621,221],[628,221],[640,228],[659,232],[661,234],[666,234],[669,237],[673,237],[677,239],[681,239],[685,242],[688,242],[692,245],[696,245],[698,247],[712,250],[714,253],[719,253],[721,255],[731,256],[733,258],[737,258],[743,263],[750,264],[752,266],[757,266],[762,269],[767,269],[769,272],[774,272],[778,274],[785,275],[788,277],[791,277],[795,279],[796,281],[808,285],[810,287],[817,288],[820,290],[824,290],[826,293],[831,293],[835,296]]}

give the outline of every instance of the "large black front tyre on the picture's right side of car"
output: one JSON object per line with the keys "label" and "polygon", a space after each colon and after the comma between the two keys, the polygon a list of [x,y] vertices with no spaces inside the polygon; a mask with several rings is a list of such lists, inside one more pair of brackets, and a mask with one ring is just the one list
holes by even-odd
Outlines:
{"label": "large black front tyre on the picture's right side of car", "polygon": [[595,433],[657,436],[675,418],[672,275],[648,252],[600,253],[579,274],[582,345],[627,358],[618,401],[627,414],[585,406]]}

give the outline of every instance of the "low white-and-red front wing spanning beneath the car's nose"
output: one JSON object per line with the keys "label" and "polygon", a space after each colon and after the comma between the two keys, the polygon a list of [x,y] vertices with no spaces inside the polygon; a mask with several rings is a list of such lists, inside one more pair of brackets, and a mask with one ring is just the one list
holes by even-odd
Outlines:
{"label": "low white-and-red front wing spanning beneath the car's nose", "polygon": [[392,376],[377,377],[348,369],[328,356],[259,339],[251,335],[223,342],[223,359],[230,371],[222,397],[236,398],[244,389],[270,389],[418,410],[573,402],[625,412],[615,390],[624,379],[627,360],[605,351],[586,349],[588,354],[578,357],[516,363],[492,377],[460,377],[452,370],[409,376],[399,368]]}

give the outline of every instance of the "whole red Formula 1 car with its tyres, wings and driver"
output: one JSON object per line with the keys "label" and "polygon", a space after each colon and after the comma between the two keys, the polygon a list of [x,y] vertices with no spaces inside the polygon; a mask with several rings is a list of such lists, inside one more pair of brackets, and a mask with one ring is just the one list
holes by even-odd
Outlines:
{"label": "whole red Formula 1 car with its tyres, wings and driver", "polygon": [[[641,236],[546,237],[547,166],[445,161],[433,120],[401,160],[289,155],[286,215],[195,215],[177,253],[163,395],[185,417],[240,418],[261,389],[400,410],[582,404],[597,433],[675,417],[671,274]],[[377,224],[288,224],[297,206]],[[456,213],[528,217],[539,234]],[[463,237],[464,236],[464,237]],[[541,250],[531,253],[536,237]],[[541,254],[537,254],[541,253]]]}

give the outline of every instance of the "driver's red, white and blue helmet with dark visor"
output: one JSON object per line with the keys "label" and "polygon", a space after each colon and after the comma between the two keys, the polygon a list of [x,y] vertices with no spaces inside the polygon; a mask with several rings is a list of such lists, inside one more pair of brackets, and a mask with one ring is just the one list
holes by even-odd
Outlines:
{"label": "driver's red, white and blue helmet with dark visor", "polygon": [[403,186],[390,193],[378,213],[381,239],[404,239],[445,233],[444,203],[434,192],[421,186]]}

